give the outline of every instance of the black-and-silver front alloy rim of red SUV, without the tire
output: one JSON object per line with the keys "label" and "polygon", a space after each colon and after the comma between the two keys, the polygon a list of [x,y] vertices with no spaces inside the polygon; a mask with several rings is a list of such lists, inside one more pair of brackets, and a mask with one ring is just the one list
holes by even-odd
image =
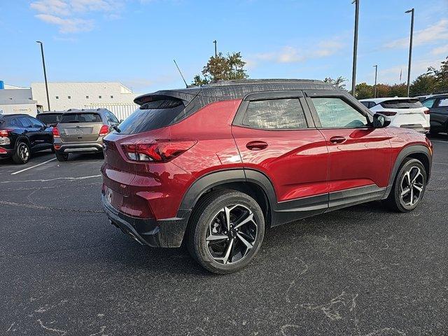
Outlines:
{"label": "black-and-silver front alloy rim of red SUV, without the tire", "polygon": [[410,167],[401,180],[401,202],[406,207],[414,207],[421,199],[424,188],[424,177],[419,167]]}

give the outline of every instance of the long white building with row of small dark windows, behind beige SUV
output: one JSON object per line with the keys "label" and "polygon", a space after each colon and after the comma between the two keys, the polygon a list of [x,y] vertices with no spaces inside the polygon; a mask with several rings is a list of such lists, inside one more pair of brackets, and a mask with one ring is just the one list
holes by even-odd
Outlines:
{"label": "long white building with row of small dark windows, behind beige SUV", "polygon": [[[31,83],[31,91],[32,97],[47,111],[45,83]],[[121,83],[48,83],[48,95],[51,111],[104,108],[113,112],[118,119],[125,119],[139,107],[134,104],[134,98],[139,94]]]}

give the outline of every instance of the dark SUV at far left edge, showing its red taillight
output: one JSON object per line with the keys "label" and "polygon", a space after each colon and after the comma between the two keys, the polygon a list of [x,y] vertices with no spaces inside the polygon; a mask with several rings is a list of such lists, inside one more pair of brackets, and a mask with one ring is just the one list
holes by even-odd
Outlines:
{"label": "dark SUV at far left edge, showing its red taillight", "polygon": [[51,129],[27,114],[0,115],[0,158],[27,163],[31,153],[52,149]]}

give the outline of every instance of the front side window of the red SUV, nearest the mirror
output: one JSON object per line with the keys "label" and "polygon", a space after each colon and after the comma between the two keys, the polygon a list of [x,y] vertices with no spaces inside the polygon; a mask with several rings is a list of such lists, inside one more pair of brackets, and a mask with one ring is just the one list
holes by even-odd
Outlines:
{"label": "front side window of the red SUV, nearest the mirror", "polygon": [[311,98],[322,127],[357,128],[368,125],[367,118],[339,98]]}

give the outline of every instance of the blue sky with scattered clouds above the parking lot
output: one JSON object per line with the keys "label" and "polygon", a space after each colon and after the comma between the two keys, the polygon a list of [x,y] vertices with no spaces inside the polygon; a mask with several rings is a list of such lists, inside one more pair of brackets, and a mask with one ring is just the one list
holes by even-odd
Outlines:
{"label": "blue sky with scattered clouds above the parking lot", "polygon": [[[448,56],[448,0],[360,0],[357,82],[406,80]],[[251,78],[351,78],[351,0],[1,0],[0,80],[120,81],[135,92],[183,87],[218,50],[241,51]],[[350,80],[349,80],[350,82]],[[350,83],[347,83],[348,87]]]}

